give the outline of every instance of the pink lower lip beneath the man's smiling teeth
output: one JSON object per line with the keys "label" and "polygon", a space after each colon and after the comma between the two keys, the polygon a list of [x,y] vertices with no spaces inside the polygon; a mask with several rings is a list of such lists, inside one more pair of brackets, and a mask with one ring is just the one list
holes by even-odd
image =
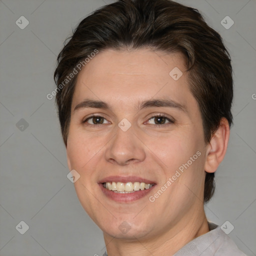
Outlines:
{"label": "pink lower lip beneath the man's smiling teeth", "polygon": [[99,187],[102,190],[102,192],[105,194],[105,196],[107,196],[108,198],[116,202],[132,202],[132,201],[138,200],[146,196],[154,186],[155,185],[151,186],[148,189],[138,190],[132,193],[116,193],[112,190],[108,190],[107,188],[104,188],[103,184],[99,183]]}

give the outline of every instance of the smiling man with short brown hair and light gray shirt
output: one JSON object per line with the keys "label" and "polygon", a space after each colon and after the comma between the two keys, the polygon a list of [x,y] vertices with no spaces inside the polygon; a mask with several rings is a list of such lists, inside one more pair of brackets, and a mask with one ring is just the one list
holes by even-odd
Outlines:
{"label": "smiling man with short brown hair and light gray shirt", "polygon": [[233,89],[229,54],[196,9],[103,6],[79,23],[54,77],[68,167],[104,255],[244,255],[203,209]]}

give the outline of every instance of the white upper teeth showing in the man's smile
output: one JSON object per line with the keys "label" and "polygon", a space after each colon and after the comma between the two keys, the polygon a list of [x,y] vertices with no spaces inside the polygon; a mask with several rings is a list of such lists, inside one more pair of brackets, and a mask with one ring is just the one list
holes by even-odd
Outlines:
{"label": "white upper teeth showing in the man's smile", "polygon": [[126,191],[126,192],[131,192],[131,191],[138,191],[143,190],[143,189],[148,189],[152,186],[153,184],[149,183],[144,183],[144,182],[105,182],[103,183],[103,187],[107,188],[108,190],[116,191],[116,192],[121,192],[121,191]]}

